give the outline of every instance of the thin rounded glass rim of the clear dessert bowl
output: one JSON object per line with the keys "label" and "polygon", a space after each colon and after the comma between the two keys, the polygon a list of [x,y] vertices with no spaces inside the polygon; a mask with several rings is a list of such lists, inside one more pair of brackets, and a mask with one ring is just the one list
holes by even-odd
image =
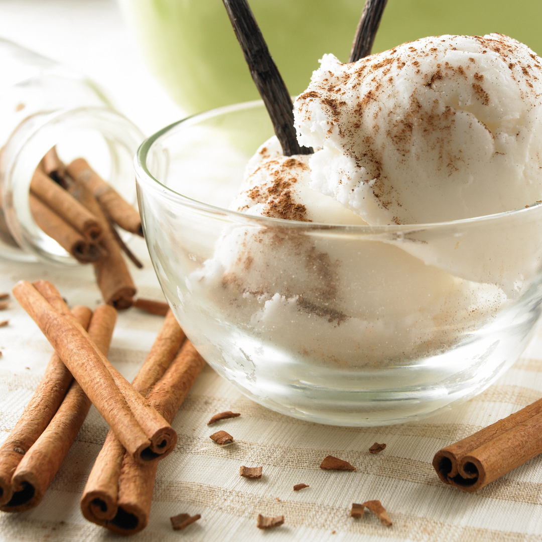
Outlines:
{"label": "thin rounded glass rim of the clear dessert bowl", "polygon": [[202,113],[195,113],[184,117],[176,122],[165,126],[161,130],[155,132],[150,137],[145,139],[139,146],[134,156],[134,170],[138,183],[143,183],[147,188],[150,188],[156,195],[169,199],[169,201],[175,202],[184,207],[190,207],[199,211],[205,211],[209,214],[220,215],[222,217],[227,216],[237,221],[247,221],[251,223],[260,223],[261,225],[275,225],[282,224],[288,228],[301,228],[301,229],[334,229],[334,230],[347,230],[349,232],[357,233],[390,233],[390,232],[405,232],[412,230],[426,230],[435,228],[448,228],[448,227],[461,227],[466,225],[479,224],[482,222],[493,222],[506,220],[507,218],[515,217],[518,214],[533,212],[535,209],[542,205],[542,200],[526,205],[525,207],[519,207],[517,209],[511,209],[508,211],[502,211],[491,215],[475,216],[471,218],[461,218],[460,220],[452,220],[446,222],[429,222],[429,223],[412,223],[412,224],[385,224],[385,225],[363,225],[363,224],[332,224],[322,222],[300,222],[295,220],[288,220],[286,218],[271,218],[266,216],[249,215],[240,211],[234,211],[225,209],[223,207],[217,207],[216,205],[210,205],[198,201],[197,199],[183,196],[181,193],[176,192],[169,186],[161,183],[155,178],[146,165],[146,157],[152,146],[157,143],[165,135],[175,130],[179,126],[185,126],[189,128],[197,124],[200,121],[207,120],[213,117],[217,117],[221,114],[234,113],[235,111],[246,110],[261,107],[262,100],[254,100],[248,102],[240,102],[238,104],[227,105],[223,107],[217,107],[215,109],[209,109]]}

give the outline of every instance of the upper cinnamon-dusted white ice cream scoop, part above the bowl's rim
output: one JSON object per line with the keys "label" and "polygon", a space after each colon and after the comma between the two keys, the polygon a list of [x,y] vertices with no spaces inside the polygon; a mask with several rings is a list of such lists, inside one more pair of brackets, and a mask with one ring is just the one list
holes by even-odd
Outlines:
{"label": "upper cinnamon-dusted white ice cream scoop, part above the bowl's rim", "polygon": [[512,38],[439,36],[358,62],[324,55],[294,104],[312,188],[369,224],[542,199],[542,59]]}

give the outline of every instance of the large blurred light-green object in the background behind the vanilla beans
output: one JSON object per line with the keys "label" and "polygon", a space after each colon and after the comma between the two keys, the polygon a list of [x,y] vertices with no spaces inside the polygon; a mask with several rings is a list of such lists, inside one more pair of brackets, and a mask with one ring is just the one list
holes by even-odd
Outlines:
{"label": "large blurred light-green object in the background behind the vanilla beans", "polygon": [[[120,0],[147,63],[187,113],[258,98],[222,0]],[[291,94],[324,53],[348,59],[359,0],[249,0]],[[388,0],[373,52],[441,34],[507,34],[542,53],[542,0]]]}

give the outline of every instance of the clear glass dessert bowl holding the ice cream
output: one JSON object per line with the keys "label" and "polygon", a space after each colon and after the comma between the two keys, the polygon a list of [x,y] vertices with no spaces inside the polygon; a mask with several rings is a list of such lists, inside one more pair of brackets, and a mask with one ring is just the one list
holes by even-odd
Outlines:
{"label": "clear glass dessert bowl holding the ice cream", "polygon": [[540,316],[540,202],[378,227],[228,210],[272,134],[250,102],[164,128],[135,160],[154,269],[218,373],[283,414],[362,426],[449,408],[518,359]]}

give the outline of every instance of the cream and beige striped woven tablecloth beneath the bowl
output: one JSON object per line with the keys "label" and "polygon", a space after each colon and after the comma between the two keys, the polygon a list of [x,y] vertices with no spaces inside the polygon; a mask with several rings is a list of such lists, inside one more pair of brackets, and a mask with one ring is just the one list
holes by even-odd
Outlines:
{"label": "cream and beige striped woven tablecloth beneath the bowl", "polygon": [[[139,254],[143,243],[136,240]],[[149,261],[134,272],[142,296],[162,295]],[[99,302],[88,268],[53,269],[43,264],[0,261],[0,291],[19,279],[53,281],[70,304]],[[12,301],[0,313],[0,441],[8,435],[50,356],[40,331]],[[135,309],[119,315],[109,359],[132,378],[150,349],[162,319]],[[133,540],[244,541],[431,541],[542,540],[542,456],[482,489],[462,493],[444,486],[431,467],[436,450],[542,397],[542,333],[497,383],[471,401],[421,422],[379,428],[340,428],[276,414],[243,397],[207,367],[173,426],[179,443],[160,463],[151,520]],[[211,427],[209,418],[233,410],[241,416]],[[220,448],[209,435],[219,429],[235,438]],[[21,514],[0,512],[0,540],[109,540],[119,538],[89,524],[79,498],[107,427],[93,408],[40,506]],[[369,453],[373,442],[386,449]],[[328,454],[350,461],[355,472],[319,468]],[[262,466],[261,480],[239,475],[241,465]],[[293,491],[296,483],[310,487]],[[392,527],[372,514],[350,518],[352,502],[378,499]],[[184,531],[169,518],[188,512],[202,518]],[[258,513],[285,516],[273,531],[256,528]]]}

